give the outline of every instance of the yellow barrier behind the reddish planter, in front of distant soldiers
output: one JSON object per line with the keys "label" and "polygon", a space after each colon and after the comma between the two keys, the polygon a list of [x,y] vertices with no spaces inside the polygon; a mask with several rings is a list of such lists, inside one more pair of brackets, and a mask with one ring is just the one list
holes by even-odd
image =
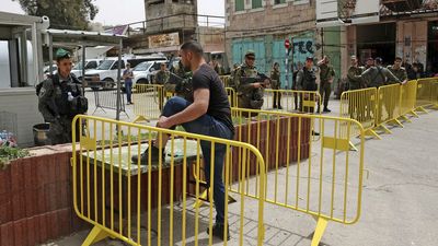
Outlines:
{"label": "yellow barrier behind the reddish planter, in front of distant soldiers", "polygon": [[[293,90],[265,90],[265,102],[262,109],[279,109],[277,103],[286,112],[316,113],[321,109],[321,95],[318,91],[293,91]],[[274,106],[277,106],[274,108]],[[321,112],[320,112],[321,113]]]}

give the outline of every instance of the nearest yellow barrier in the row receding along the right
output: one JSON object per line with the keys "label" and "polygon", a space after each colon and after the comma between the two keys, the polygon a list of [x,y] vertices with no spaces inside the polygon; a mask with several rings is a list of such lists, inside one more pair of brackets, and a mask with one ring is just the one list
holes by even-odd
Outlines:
{"label": "nearest yellow barrier in the row receding along the right", "polygon": [[[381,139],[373,130],[377,117],[377,89],[361,89],[343,92],[341,95],[341,117],[359,121],[365,129],[365,134]],[[358,129],[353,129],[360,133]]]}

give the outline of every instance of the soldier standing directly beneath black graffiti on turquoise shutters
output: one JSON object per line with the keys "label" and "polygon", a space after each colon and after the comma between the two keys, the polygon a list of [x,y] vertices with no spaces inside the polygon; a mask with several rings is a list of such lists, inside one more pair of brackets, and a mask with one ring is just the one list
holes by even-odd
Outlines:
{"label": "soldier standing directly beneath black graffiti on turquoise shutters", "polygon": [[[308,57],[306,58],[306,65],[304,67],[298,71],[297,73],[297,89],[298,91],[318,91],[318,84],[316,84],[316,74],[313,71],[313,57]],[[304,97],[304,98],[302,98]],[[306,113],[313,113],[314,107],[303,107],[302,102],[303,99],[310,99],[310,101],[315,101],[315,95],[312,94],[304,94],[300,98],[300,112],[306,112]]]}

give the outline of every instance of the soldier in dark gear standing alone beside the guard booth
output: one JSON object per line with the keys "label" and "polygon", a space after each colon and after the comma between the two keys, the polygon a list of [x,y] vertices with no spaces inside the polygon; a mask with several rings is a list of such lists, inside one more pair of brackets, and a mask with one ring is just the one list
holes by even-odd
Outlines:
{"label": "soldier in dark gear standing alone beside the guard booth", "polygon": [[[88,110],[82,84],[70,73],[70,52],[58,49],[56,61],[58,73],[37,85],[38,109],[44,120],[50,124],[48,138],[51,144],[71,142],[72,119],[76,115]],[[76,126],[76,140],[79,140],[79,124]]]}

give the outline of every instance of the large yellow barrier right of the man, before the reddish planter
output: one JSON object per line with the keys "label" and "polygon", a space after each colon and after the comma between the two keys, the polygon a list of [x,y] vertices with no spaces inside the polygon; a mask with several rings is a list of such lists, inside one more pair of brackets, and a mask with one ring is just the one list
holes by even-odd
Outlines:
{"label": "large yellow barrier right of the man, before the reddish planter", "polygon": [[[253,117],[242,117],[251,114]],[[316,230],[312,246],[319,245],[328,221],[354,224],[361,211],[365,131],[353,119],[273,110],[232,108],[235,140],[256,147],[267,175],[266,202],[313,216]],[[311,141],[314,122],[321,121],[321,140]],[[359,138],[356,138],[359,137]],[[350,152],[350,143],[358,148]],[[257,197],[257,166],[233,151],[233,168],[254,175],[246,180],[245,195]],[[233,185],[241,190],[243,184]]]}

